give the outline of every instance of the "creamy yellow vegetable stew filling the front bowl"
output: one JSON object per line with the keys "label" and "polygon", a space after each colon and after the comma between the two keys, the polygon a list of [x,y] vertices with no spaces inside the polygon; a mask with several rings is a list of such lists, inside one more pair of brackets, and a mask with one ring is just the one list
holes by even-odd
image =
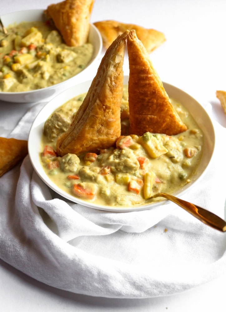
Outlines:
{"label": "creamy yellow vegetable stew filling the front bowl", "polygon": [[202,155],[203,134],[188,110],[170,99],[188,130],[174,136],[128,135],[128,86],[121,104],[122,136],[116,146],[77,157],[55,154],[57,137],[68,128],[85,94],[58,108],[46,121],[40,161],[63,191],[109,206],[145,204],[151,195],[173,193],[191,182]]}

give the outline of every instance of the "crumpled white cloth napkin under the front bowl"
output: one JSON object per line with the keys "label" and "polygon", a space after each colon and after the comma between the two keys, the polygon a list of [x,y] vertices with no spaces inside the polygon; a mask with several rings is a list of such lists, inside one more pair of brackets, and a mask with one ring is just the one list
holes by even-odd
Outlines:
{"label": "crumpled white cloth napkin under the front bowl", "polygon": [[[27,139],[44,104],[34,105],[10,137]],[[182,198],[224,218],[226,129],[214,123],[208,172]],[[173,203],[139,212],[104,212],[58,196],[27,156],[0,178],[0,257],[62,290],[112,298],[182,292],[226,272],[226,234]]]}

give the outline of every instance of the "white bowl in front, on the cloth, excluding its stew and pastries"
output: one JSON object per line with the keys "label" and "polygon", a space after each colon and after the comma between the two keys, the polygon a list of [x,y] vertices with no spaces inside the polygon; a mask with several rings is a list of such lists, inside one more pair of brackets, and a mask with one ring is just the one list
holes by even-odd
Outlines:
{"label": "white bowl in front, on the cloth, excluding its stew and pastries", "polygon": [[[124,76],[124,84],[128,84],[128,76]],[[106,211],[115,211],[115,212],[129,212],[129,211],[138,211],[144,209],[150,209],[154,206],[159,206],[163,203],[168,203],[169,201],[163,200],[159,202],[153,202],[148,204],[141,204],[139,206],[134,207],[109,207],[109,206],[100,206],[96,205],[92,202],[87,202],[75,196],[72,196],[64,191],[62,191],[57,185],[55,185],[47,176],[45,171],[42,168],[40,163],[40,140],[42,137],[43,126],[46,119],[52,114],[54,110],[56,110],[59,106],[64,104],[66,101],[70,100],[71,98],[80,95],[81,93],[87,92],[91,85],[91,81],[86,81],[79,85],[76,85],[68,90],[65,90],[61,94],[57,95],[54,99],[52,99],[47,105],[43,107],[43,109],[39,112],[37,117],[35,118],[32,127],[30,129],[29,138],[28,138],[28,153],[32,165],[39,175],[39,177],[55,192],[60,194],[61,196],[71,200],[72,202],[80,203],[84,206],[88,206],[95,209],[106,210]],[[199,178],[203,175],[203,173],[207,170],[210,160],[212,158],[214,152],[214,145],[215,145],[215,134],[214,134],[214,127],[209,118],[209,115],[204,110],[204,108],[191,97],[186,92],[174,87],[173,85],[163,83],[164,88],[167,94],[173,98],[174,100],[179,101],[186,107],[193,118],[196,120],[197,124],[199,125],[200,129],[203,131],[204,134],[204,149],[202,159],[199,163],[199,167],[194,173],[191,183],[188,183],[183,188],[179,189],[174,195],[180,196],[183,193],[190,190],[199,180]]]}

